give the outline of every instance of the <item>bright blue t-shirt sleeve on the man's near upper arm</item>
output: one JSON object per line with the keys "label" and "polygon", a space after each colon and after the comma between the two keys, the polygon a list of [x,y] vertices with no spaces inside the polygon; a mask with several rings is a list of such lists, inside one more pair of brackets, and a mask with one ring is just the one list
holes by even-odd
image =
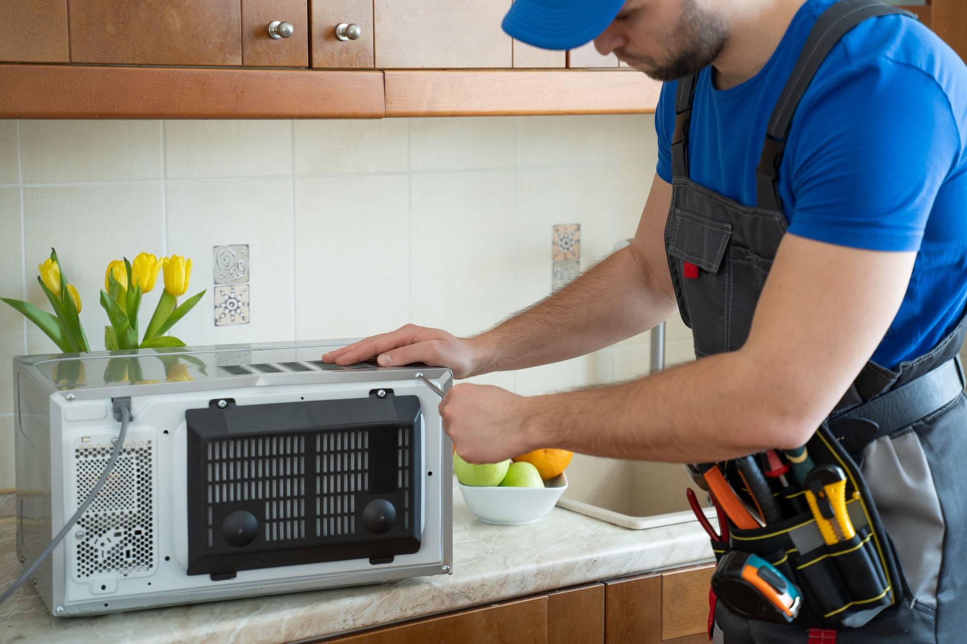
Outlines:
{"label": "bright blue t-shirt sleeve on the man's near upper arm", "polygon": [[885,251],[920,249],[962,151],[950,100],[934,78],[884,58],[810,89],[788,143],[780,172],[792,173],[789,232]]}

